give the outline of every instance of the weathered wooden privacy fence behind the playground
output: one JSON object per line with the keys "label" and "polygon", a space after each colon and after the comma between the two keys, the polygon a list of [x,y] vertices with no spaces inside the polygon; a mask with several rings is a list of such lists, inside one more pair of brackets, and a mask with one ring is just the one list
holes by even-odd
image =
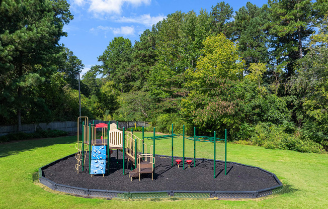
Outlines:
{"label": "weathered wooden privacy fence behind the playground", "polygon": [[[100,120],[89,120],[90,123],[93,123],[95,121],[95,124],[99,123],[105,123],[107,124],[109,121],[100,121]],[[111,124],[115,123],[116,121],[111,121]],[[150,124],[148,122],[144,121],[128,121],[128,122],[118,122],[118,128],[123,129],[125,127],[133,128],[134,124],[136,124],[137,127],[149,127]],[[38,129],[56,129],[56,130],[62,130],[69,133],[76,133],[77,132],[77,121],[65,121],[65,122],[50,122],[50,123],[38,123],[38,124],[22,124],[21,132],[25,133],[34,133]],[[80,130],[82,128],[80,127]],[[17,132],[17,125],[2,125],[0,126],[0,136],[5,136],[7,134],[16,133]]]}

